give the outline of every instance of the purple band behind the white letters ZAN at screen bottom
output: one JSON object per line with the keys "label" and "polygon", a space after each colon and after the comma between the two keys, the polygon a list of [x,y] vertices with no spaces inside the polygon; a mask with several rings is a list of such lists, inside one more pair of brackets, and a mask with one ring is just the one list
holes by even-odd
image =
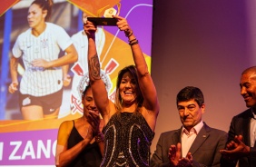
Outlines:
{"label": "purple band behind the white letters ZAN at screen bottom", "polygon": [[[43,130],[43,131],[30,131],[19,133],[0,133],[0,142],[4,142],[3,159],[0,161],[0,165],[51,165],[54,164],[55,146],[53,144],[57,139],[58,130]],[[37,154],[37,142],[41,140],[44,142],[44,147],[47,149],[47,140],[51,140],[50,158],[44,156],[44,152],[41,152],[41,159],[36,158]],[[25,145],[28,141],[32,141],[35,159],[31,156],[25,156],[25,160],[9,160],[9,156],[15,150],[15,145],[10,145],[10,142],[22,142],[21,146],[15,153],[15,156],[22,156]],[[1,150],[1,149],[0,149]],[[30,150],[28,150],[30,152]],[[2,152],[0,152],[2,153]]]}

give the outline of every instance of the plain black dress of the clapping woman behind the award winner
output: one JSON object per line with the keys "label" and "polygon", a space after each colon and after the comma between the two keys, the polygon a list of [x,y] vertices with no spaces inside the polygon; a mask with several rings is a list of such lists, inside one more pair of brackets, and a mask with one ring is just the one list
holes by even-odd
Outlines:
{"label": "plain black dress of the clapping woman behind the award winner", "polygon": [[[69,138],[67,147],[68,149],[74,147],[78,142],[83,141],[84,138],[78,133],[77,129],[73,127]],[[97,167],[100,166],[102,161],[102,154],[97,142],[89,143],[84,150],[68,166],[70,167]]]}

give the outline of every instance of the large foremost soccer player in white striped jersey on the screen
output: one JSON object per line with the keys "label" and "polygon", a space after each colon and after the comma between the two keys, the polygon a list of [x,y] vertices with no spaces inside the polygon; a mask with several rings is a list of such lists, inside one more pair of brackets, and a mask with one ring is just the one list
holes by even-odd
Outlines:
{"label": "large foremost soccer player in white striped jersey on the screen", "polygon": [[[77,61],[77,53],[70,36],[59,25],[48,21],[52,0],[34,0],[27,14],[30,28],[20,34],[10,60],[12,83],[9,92],[19,85],[19,104],[25,120],[56,118],[62,104],[62,67]],[[60,50],[66,54],[59,57]],[[18,59],[23,59],[25,73],[18,82]]]}

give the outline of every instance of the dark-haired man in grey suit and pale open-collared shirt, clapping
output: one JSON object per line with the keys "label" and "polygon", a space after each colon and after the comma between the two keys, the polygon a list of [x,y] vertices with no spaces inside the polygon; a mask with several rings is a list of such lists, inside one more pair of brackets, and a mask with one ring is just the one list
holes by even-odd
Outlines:
{"label": "dark-haired man in grey suit and pale open-collared shirt, clapping", "polygon": [[187,86],[177,94],[176,104],[182,128],[161,134],[150,166],[220,166],[228,136],[202,122],[202,91]]}

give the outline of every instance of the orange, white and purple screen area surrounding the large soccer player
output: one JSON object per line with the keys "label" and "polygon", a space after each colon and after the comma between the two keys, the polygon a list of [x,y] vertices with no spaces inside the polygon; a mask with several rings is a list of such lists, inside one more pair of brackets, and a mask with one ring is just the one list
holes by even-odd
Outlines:
{"label": "orange, white and purple screen area surrounding the large soccer player", "polygon": [[[13,1],[15,5],[6,2],[6,10],[0,20],[1,26],[3,26],[0,31],[1,34],[4,34],[1,36],[1,48],[3,48],[1,58],[4,60],[1,63],[5,69],[9,69],[9,57],[13,54],[12,50],[17,37],[29,29],[27,15],[32,2],[31,0]],[[78,118],[83,114],[80,91],[84,89],[84,83],[88,82],[88,78],[86,78],[87,60],[84,56],[87,54],[87,50],[83,50],[84,47],[87,48],[87,44],[86,38],[84,44],[77,41],[79,38],[75,38],[75,34],[83,33],[83,11],[88,16],[96,17],[103,16],[105,10],[108,9],[115,10],[129,21],[140,41],[147,64],[151,67],[153,1],[99,0],[81,4],[81,1],[78,0],[54,0],[52,15],[48,22],[64,28],[64,31],[72,37],[78,53],[78,61],[69,64],[67,72],[71,77],[71,83],[63,87],[62,104],[57,116],[40,120],[25,120],[20,111],[19,91],[8,92],[8,86],[12,80],[10,71],[5,70],[5,74],[1,75],[1,80],[5,80],[5,92],[1,92],[1,97],[5,98],[1,99],[3,105],[0,110],[2,120],[0,121],[0,165],[54,165],[56,137],[60,123]],[[138,15],[141,17],[140,22],[137,22]],[[102,70],[109,80],[107,87],[109,98],[113,100],[118,71],[124,66],[134,64],[130,51],[131,46],[127,42],[127,37],[116,26],[98,26],[96,35]],[[39,46],[47,48],[49,43],[45,38],[41,40]],[[33,44],[28,47],[36,49]],[[40,47],[37,50],[40,51]],[[61,51],[59,56],[64,54],[64,51]],[[82,55],[85,58],[81,58]],[[20,58],[17,65],[19,82],[27,70],[24,61]],[[3,69],[1,71],[3,72]],[[4,76],[5,78],[3,78]],[[50,101],[53,100],[50,99]]]}

